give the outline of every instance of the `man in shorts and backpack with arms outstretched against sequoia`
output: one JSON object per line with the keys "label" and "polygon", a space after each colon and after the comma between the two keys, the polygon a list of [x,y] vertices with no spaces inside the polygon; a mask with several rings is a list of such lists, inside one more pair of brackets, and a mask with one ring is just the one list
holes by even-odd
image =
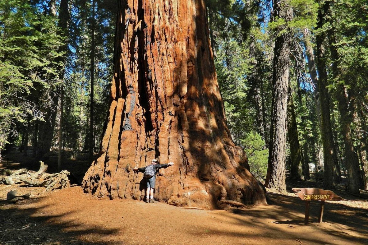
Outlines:
{"label": "man in shorts and backpack with arms outstretched against sequoia", "polygon": [[143,168],[133,168],[133,171],[144,173],[144,178],[146,179],[147,189],[146,189],[146,200],[148,203],[157,203],[157,201],[153,198],[153,190],[155,189],[156,183],[156,173],[160,168],[166,168],[171,165],[174,165],[173,162],[169,162],[167,164],[158,164],[156,159],[152,159],[150,165]]}

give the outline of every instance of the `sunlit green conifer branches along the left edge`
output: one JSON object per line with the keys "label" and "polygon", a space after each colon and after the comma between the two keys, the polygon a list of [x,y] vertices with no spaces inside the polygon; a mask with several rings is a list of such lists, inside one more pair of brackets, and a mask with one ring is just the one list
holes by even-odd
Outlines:
{"label": "sunlit green conifer branches along the left edge", "polygon": [[26,0],[0,0],[0,149],[26,118],[43,120],[60,83],[55,19]]}

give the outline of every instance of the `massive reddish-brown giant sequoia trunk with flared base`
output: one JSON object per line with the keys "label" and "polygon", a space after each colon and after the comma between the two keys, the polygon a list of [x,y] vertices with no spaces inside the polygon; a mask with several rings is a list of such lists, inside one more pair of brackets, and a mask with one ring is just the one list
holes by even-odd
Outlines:
{"label": "massive reddish-brown giant sequoia trunk with flared base", "polygon": [[265,203],[226,125],[204,0],[121,0],[110,111],[98,158],[83,180],[96,197],[141,199],[152,158],[156,197],[213,208],[227,199]]}

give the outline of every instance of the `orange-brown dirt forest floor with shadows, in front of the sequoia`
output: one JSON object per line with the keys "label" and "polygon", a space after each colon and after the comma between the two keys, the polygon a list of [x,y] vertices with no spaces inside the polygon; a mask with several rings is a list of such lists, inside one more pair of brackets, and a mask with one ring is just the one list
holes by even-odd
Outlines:
{"label": "orange-brown dirt forest floor with shadows, in front of the sequoia", "polygon": [[[75,182],[90,162],[66,160],[64,168]],[[56,172],[57,157],[45,164]],[[8,154],[0,168],[38,170],[39,162],[20,153]],[[312,201],[310,223],[304,225],[304,201],[292,187],[320,188],[321,180],[287,181],[288,193],[267,192],[267,206],[246,209],[196,210],[166,203],[136,200],[97,200],[80,186],[45,192],[41,187],[0,185],[0,245],[92,245],[92,244],[231,244],[306,245],[368,244],[368,193],[348,195],[326,202],[323,222],[317,223],[319,202]],[[31,192],[28,200],[6,201],[9,190]]]}

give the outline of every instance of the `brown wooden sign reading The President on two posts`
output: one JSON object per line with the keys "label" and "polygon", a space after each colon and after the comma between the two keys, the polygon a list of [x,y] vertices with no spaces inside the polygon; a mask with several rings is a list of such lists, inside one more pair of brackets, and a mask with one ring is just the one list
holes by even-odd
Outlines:
{"label": "brown wooden sign reading The President on two posts", "polygon": [[319,216],[318,223],[322,222],[323,217],[323,209],[325,207],[325,201],[341,201],[342,197],[337,196],[331,190],[322,190],[322,189],[314,189],[314,188],[293,188],[295,195],[299,196],[301,200],[305,200],[305,217],[304,224],[308,224],[309,222],[309,204],[311,200],[319,200],[321,201],[319,207]]}

